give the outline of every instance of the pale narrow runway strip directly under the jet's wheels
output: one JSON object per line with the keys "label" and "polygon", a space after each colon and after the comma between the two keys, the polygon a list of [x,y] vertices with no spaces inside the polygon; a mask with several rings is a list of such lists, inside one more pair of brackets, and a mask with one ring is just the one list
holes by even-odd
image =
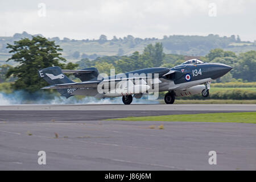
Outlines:
{"label": "pale narrow runway strip directly under the jet's wheels", "polygon": [[255,104],[96,104],[96,105],[7,105],[0,110],[157,110],[157,111],[255,111]]}

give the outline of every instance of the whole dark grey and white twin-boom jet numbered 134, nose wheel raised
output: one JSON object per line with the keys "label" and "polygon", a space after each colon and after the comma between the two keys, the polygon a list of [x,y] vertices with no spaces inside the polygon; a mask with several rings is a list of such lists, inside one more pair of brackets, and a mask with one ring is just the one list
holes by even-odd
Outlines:
{"label": "whole dark grey and white twin-boom jet numbered 134, nose wheel raised", "polygon": [[[173,68],[146,68],[110,76],[102,76],[96,68],[61,70],[60,67],[40,69],[38,75],[50,84],[42,89],[57,89],[66,98],[74,95],[122,97],[123,104],[129,105],[133,97],[168,91],[164,101],[174,104],[175,97],[193,94],[208,97],[210,82],[231,69],[225,64],[192,59]],[[73,74],[81,82],[73,82],[64,73]]]}

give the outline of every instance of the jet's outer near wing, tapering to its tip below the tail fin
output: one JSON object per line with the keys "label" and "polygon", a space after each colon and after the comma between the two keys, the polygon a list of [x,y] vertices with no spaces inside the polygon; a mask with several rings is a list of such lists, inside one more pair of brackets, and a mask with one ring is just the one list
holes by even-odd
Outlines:
{"label": "jet's outer near wing, tapering to its tip below the tail fin", "polygon": [[97,88],[100,81],[85,81],[78,83],[69,83],[69,84],[56,84],[45,86],[42,89],[71,89],[71,88]]}

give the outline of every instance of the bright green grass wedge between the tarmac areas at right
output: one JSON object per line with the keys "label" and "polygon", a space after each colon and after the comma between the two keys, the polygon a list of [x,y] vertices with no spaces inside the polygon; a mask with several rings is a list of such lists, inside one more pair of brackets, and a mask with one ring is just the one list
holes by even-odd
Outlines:
{"label": "bright green grass wedge between the tarmac areas at right", "polygon": [[107,119],[107,120],[256,123],[256,112],[176,114],[176,115],[159,115],[159,116],[147,116],[147,117],[127,117],[127,118],[117,118],[117,119]]}

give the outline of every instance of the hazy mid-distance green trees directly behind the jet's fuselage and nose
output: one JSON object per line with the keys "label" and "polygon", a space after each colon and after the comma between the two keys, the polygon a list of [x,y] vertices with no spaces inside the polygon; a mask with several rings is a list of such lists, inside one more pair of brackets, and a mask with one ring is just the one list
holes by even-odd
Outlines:
{"label": "hazy mid-distance green trees directly behind the jet's fuselage and nose", "polygon": [[[205,62],[223,63],[233,67],[232,71],[218,78],[216,82],[230,81],[256,81],[256,51],[236,53],[216,48],[210,50],[206,56],[200,58]],[[81,59],[77,61],[79,68],[96,67],[100,72],[109,75],[110,68],[115,68],[115,73],[125,73],[136,69],[150,67],[172,68],[183,63],[183,55],[164,54],[162,43],[149,44],[142,54],[135,51],[131,56],[103,56],[95,60]]]}

